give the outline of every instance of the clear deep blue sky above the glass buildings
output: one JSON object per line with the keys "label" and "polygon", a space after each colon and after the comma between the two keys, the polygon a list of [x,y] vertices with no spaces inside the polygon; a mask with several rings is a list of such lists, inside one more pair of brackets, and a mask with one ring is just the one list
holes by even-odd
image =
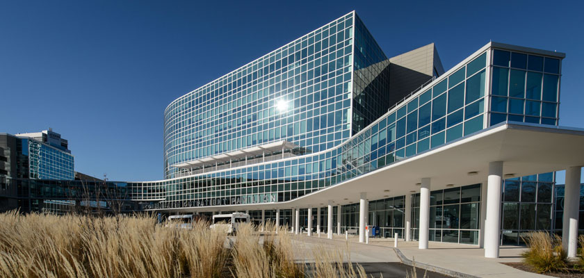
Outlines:
{"label": "clear deep blue sky above the glass buildings", "polygon": [[584,127],[580,1],[215,2],[0,2],[0,132],[52,127],[79,172],[162,179],[170,101],[351,10],[387,56],[435,42],[446,70],[489,40],[565,52],[560,124]]}

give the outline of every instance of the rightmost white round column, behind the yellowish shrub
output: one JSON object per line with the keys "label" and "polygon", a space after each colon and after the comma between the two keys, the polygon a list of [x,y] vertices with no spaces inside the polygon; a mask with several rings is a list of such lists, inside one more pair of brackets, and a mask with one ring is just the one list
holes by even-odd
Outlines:
{"label": "rightmost white round column, behind the yellowish shrub", "polygon": [[578,248],[578,210],[580,206],[581,167],[566,169],[564,188],[564,217],[562,219],[562,245],[569,258],[576,258]]}

